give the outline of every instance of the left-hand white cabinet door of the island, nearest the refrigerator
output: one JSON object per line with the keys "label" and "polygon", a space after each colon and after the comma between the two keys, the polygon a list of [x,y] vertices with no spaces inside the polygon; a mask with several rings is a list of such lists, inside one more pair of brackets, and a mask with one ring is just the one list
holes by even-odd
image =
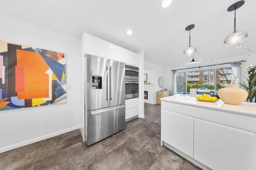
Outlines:
{"label": "left-hand white cabinet door of the island, nearest the refrigerator", "polygon": [[162,141],[193,157],[194,117],[161,111]]}

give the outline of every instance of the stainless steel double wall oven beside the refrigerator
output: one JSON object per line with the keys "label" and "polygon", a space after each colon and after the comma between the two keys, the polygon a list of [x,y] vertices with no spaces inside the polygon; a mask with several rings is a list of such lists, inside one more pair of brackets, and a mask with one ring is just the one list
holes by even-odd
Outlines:
{"label": "stainless steel double wall oven beside the refrigerator", "polygon": [[139,68],[125,65],[125,99],[139,97]]}

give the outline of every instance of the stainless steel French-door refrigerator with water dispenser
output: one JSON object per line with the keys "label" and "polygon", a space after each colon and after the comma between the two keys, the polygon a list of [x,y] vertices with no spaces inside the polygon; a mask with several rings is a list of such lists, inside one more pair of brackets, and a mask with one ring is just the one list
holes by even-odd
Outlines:
{"label": "stainless steel French-door refrigerator with water dispenser", "polygon": [[86,56],[85,139],[92,145],[125,128],[125,64]]}

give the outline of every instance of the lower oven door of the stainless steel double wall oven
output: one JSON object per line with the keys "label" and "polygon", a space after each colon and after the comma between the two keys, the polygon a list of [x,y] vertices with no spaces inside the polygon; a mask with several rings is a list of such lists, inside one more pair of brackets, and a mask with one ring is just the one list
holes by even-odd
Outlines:
{"label": "lower oven door of the stainless steel double wall oven", "polygon": [[125,99],[139,97],[139,82],[125,82]]}

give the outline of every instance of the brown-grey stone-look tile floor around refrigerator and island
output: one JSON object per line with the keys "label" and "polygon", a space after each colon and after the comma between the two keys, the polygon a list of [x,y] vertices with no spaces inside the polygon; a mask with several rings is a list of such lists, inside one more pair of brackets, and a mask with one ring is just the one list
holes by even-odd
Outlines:
{"label": "brown-grey stone-look tile floor around refrigerator and island", "polygon": [[145,114],[148,119],[129,121],[124,131],[90,147],[82,141],[80,130],[75,130],[1,153],[0,170],[200,169],[160,146],[160,122],[153,116],[158,109],[154,107],[160,108],[146,104],[145,111],[151,112]]}

